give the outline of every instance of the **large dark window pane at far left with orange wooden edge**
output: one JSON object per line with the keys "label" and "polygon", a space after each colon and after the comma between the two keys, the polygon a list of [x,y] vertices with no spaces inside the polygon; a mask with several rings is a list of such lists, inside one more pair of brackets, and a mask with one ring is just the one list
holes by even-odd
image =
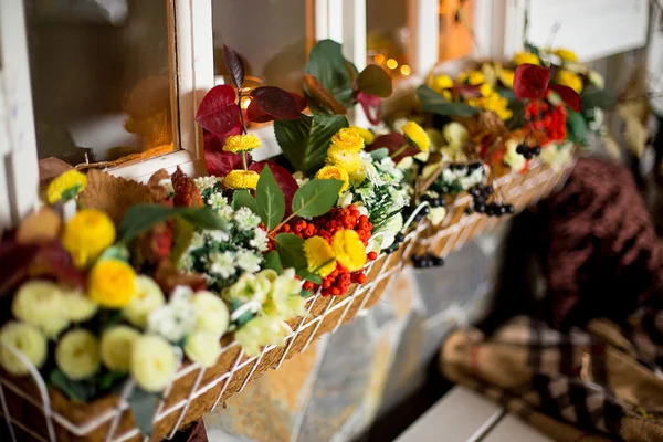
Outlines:
{"label": "large dark window pane at far left with orange wooden edge", "polygon": [[173,149],[169,4],[27,2],[40,159],[128,161]]}

